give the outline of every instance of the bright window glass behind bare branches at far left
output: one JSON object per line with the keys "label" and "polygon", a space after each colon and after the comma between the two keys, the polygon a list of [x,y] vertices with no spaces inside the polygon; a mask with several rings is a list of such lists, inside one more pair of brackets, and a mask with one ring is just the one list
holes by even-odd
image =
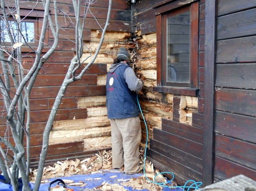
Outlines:
{"label": "bright window glass behind bare branches at far left", "polygon": [[[18,26],[16,22],[14,21],[8,21],[8,26],[6,26],[4,20],[1,20],[1,40],[4,42],[11,42],[10,36],[8,35],[8,30],[10,30],[10,33],[12,35],[12,38],[14,39],[14,42],[18,42]],[[25,37],[25,40],[27,42],[35,42],[34,35],[35,35],[35,29],[34,29],[34,22],[21,22],[21,33]],[[25,42],[23,37],[20,35],[21,42]]]}

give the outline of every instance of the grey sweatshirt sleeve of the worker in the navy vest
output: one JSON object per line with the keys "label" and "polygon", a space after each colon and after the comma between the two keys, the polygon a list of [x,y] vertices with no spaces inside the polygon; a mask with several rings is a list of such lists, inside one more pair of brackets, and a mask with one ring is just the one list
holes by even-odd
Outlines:
{"label": "grey sweatshirt sleeve of the worker in the navy vest", "polygon": [[123,76],[130,90],[139,92],[142,89],[143,84],[131,67],[125,69]]}

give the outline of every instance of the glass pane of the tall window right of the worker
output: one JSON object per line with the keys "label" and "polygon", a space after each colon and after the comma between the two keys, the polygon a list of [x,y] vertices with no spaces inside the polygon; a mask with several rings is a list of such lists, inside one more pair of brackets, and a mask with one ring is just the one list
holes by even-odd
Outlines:
{"label": "glass pane of the tall window right of the worker", "polygon": [[190,11],[167,18],[166,82],[190,83]]}

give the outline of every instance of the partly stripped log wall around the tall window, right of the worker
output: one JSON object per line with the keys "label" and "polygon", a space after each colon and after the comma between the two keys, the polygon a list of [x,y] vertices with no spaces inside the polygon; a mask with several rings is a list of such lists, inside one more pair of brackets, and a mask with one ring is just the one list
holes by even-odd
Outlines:
{"label": "partly stripped log wall around the tall window, right of the worker", "polygon": [[[153,7],[161,2],[172,1],[139,0],[132,5],[132,32],[139,47],[135,69],[144,81],[139,100],[150,132],[147,159],[162,171],[173,172],[180,184],[188,179],[202,181],[205,1],[199,2],[199,97],[154,89],[158,71],[156,10]],[[145,127],[141,125],[145,137]]]}

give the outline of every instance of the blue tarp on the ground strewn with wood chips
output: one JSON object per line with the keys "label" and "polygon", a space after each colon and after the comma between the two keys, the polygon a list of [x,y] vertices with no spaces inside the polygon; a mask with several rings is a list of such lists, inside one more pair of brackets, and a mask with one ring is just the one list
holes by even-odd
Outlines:
{"label": "blue tarp on the ground strewn with wood chips", "polygon": [[[116,176],[116,177],[113,178],[113,176]],[[123,181],[120,181],[120,179],[126,180],[126,179],[138,178],[141,176],[142,176],[142,174],[127,175],[120,171],[110,170],[110,171],[104,171],[101,173],[94,173],[94,174],[87,174],[87,175],[72,175],[70,177],[58,177],[58,179],[74,180],[74,182],[82,181],[82,182],[86,183],[87,185],[84,187],[68,186],[68,188],[72,188],[72,189],[74,189],[74,191],[83,191],[85,189],[93,189],[95,187],[98,187],[104,181],[108,182],[108,184],[119,184],[120,185],[121,183],[123,183]],[[57,179],[57,178],[51,178],[51,179],[49,179],[49,181],[53,181],[55,179]],[[49,185],[49,183],[41,184],[39,191],[47,191],[48,185]],[[56,184],[53,184],[53,186],[54,185],[56,185]],[[137,189],[134,189],[133,187],[125,187],[125,186],[123,186],[123,187],[125,189],[127,189],[128,191],[137,191]],[[0,191],[2,191],[2,190],[0,189]],[[143,189],[141,191],[147,191],[147,190]],[[164,188],[163,191],[182,191],[182,189]]]}

